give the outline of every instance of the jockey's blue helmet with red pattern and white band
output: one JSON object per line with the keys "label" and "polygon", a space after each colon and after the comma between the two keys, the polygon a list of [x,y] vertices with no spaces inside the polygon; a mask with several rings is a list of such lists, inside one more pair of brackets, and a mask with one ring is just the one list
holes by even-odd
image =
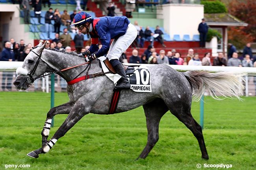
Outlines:
{"label": "jockey's blue helmet with red pattern and white band", "polygon": [[74,16],[73,24],[70,26],[79,27],[81,25],[84,25],[86,22],[89,22],[89,23],[93,22],[93,18],[91,17],[90,14],[80,11]]}

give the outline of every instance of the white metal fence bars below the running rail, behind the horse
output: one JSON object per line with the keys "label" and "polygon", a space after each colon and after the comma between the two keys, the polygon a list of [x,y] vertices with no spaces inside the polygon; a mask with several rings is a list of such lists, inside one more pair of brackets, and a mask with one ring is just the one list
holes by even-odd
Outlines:
{"label": "white metal fence bars below the running rail, behind the horse", "polygon": [[[0,71],[0,91],[18,91],[13,85],[16,76],[15,71]],[[46,76],[36,80],[34,85],[31,85],[26,91],[49,92],[51,87],[49,79],[50,76]],[[256,96],[256,76],[245,76],[244,85],[244,95]],[[56,92],[67,91],[67,82],[59,75],[55,75],[54,87]]]}

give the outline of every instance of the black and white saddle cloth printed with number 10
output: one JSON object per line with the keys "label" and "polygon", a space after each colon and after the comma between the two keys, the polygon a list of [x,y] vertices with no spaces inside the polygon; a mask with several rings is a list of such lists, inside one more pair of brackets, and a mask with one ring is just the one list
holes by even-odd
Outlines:
{"label": "black and white saddle cloth printed with number 10", "polygon": [[[105,75],[113,81],[114,84],[117,83],[121,76],[119,74],[114,74],[113,69],[108,69],[105,65],[104,60],[106,57],[102,56],[98,58],[100,60],[100,64],[102,70]],[[124,66],[126,76],[131,84],[131,89],[136,92],[152,92],[151,82],[150,82],[150,71],[147,66],[142,65],[134,65],[134,66]]]}

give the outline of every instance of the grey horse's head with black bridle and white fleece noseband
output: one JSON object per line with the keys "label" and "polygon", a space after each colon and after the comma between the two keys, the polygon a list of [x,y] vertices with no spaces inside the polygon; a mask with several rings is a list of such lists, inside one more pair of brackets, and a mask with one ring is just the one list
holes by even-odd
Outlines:
{"label": "grey horse's head with black bridle and white fleece noseband", "polygon": [[41,59],[46,43],[40,42],[25,58],[22,67],[17,68],[17,77],[13,84],[17,89],[26,90],[33,83],[34,78],[43,75],[48,66]]}

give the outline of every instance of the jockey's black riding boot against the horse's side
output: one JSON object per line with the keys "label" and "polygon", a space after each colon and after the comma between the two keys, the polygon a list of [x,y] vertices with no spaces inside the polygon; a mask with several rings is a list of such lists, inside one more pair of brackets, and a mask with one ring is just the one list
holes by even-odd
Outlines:
{"label": "jockey's black riding boot against the horse's side", "polygon": [[126,77],[126,73],[124,71],[124,67],[122,64],[117,64],[115,67],[115,71],[117,74],[121,75],[121,79],[118,80],[117,85],[115,86],[116,89],[130,89],[130,82]]}

